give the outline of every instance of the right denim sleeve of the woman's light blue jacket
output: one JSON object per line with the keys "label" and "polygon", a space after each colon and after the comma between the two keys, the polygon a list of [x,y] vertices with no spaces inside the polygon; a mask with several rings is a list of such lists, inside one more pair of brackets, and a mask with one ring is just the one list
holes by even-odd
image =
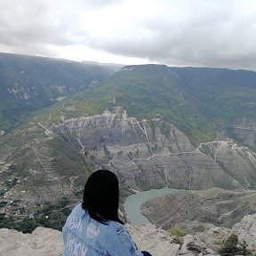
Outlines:
{"label": "right denim sleeve of the woman's light blue jacket", "polygon": [[108,248],[111,256],[143,256],[124,225],[117,226],[116,234],[113,234],[111,240],[112,246]]}

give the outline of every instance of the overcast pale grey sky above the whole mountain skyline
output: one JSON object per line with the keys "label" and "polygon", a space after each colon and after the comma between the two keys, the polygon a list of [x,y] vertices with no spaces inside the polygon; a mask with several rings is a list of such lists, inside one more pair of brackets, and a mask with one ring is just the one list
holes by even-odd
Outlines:
{"label": "overcast pale grey sky above the whole mountain skyline", "polygon": [[0,0],[0,52],[256,70],[255,0]]}

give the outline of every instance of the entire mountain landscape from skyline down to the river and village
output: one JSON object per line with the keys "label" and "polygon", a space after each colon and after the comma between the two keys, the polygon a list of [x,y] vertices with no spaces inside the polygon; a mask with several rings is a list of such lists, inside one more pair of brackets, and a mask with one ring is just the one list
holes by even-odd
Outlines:
{"label": "entire mountain landscape from skyline down to the river and village", "polygon": [[1,54],[0,83],[0,220],[10,227],[53,225],[52,205],[72,204],[102,167],[116,172],[123,200],[131,188],[256,186],[255,72],[140,65],[114,74]]}

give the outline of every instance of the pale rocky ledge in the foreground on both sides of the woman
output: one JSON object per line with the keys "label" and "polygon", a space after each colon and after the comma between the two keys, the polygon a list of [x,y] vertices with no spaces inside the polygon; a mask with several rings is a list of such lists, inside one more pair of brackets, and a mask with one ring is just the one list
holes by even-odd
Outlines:
{"label": "pale rocky ledge in the foreground on both sides of the woman", "polygon": [[[128,225],[128,228],[140,250],[148,250],[155,256],[219,255],[218,250],[231,234],[236,234],[239,243],[246,244],[248,250],[256,252],[256,214],[245,216],[233,228],[212,225],[193,236],[171,236],[154,225],[140,228]],[[22,234],[16,230],[0,229],[0,255],[63,255],[61,232],[52,228],[36,228],[32,234]]]}

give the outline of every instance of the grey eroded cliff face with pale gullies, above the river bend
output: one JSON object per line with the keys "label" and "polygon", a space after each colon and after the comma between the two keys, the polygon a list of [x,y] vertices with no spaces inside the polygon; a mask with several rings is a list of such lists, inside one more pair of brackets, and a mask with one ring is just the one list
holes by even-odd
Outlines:
{"label": "grey eroded cliff face with pale gullies, above the river bend", "polygon": [[256,159],[231,140],[193,145],[161,116],[137,120],[122,108],[114,113],[70,119],[58,125],[61,134],[95,169],[116,172],[135,189],[253,188]]}

